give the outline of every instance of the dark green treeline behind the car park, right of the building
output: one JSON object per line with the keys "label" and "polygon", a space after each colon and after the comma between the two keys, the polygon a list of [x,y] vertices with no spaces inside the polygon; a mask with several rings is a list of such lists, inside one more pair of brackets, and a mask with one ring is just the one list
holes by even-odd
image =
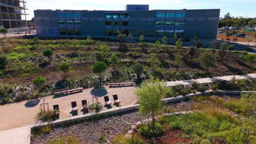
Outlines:
{"label": "dark green treeline behind the car park, right of the building", "polygon": [[220,17],[219,27],[238,27],[256,26],[256,19],[244,17],[231,17],[229,13]]}

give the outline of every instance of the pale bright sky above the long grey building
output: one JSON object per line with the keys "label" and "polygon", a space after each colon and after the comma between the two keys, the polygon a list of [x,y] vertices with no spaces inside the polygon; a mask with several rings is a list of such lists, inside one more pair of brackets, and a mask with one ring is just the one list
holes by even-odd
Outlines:
{"label": "pale bright sky above the long grey building", "polygon": [[27,0],[30,9],[28,20],[34,17],[36,9],[71,10],[125,10],[126,4],[149,4],[153,9],[220,9],[220,17],[226,13],[231,16],[256,17],[256,0]]}

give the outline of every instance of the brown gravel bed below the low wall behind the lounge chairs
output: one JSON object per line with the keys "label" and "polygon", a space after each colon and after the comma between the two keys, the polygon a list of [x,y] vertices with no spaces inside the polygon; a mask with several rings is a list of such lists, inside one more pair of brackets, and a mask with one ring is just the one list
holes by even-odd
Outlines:
{"label": "brown gravel bed below the low wall behind the lounge chairs", "polygon": [[130,124],[143,121],[146,117],[139,115],[137,111],[132,111],[123,115],[103,118],[98,121],[83,122],[70,125],[69,127],[58,127],[48,134],[32,135],[31,143],[49,143],[54,137],[61,137],[72,134],[81,143],[100,143],[98,140],[103,134],[106,142],[110,142],[115,136],[127,133]]}

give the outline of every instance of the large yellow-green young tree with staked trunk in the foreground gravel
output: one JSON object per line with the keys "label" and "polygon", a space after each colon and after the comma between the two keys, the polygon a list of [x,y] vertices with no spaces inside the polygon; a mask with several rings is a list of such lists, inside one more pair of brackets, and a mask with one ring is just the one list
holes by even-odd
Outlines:
{"label": "large yellow-green young tree with staked trunk in the foreground gravel", "polygon": [[[142,115],[152,116],[152,131],[155,133],[155,115],[162,109],[162,98],[170,92],[165,82],[159,80],[149,80],[143,82],[141,88],[137,89],[136,94],[139,98],[139,112]],[[150,130],[148,124],[148,130]]]}

